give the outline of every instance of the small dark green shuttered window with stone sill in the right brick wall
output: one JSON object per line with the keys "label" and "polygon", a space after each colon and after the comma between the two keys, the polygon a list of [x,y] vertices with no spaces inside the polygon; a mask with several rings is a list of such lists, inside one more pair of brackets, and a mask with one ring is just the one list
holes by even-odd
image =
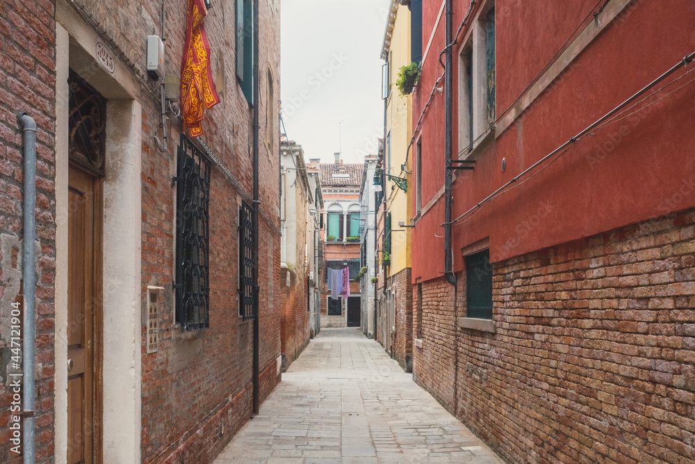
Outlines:
{"label": "small dark green shuttered window with stone sill in the right brick wall", "polygon": [[490,250],[466,256],[468,317],[492,319],[492,264]]}

